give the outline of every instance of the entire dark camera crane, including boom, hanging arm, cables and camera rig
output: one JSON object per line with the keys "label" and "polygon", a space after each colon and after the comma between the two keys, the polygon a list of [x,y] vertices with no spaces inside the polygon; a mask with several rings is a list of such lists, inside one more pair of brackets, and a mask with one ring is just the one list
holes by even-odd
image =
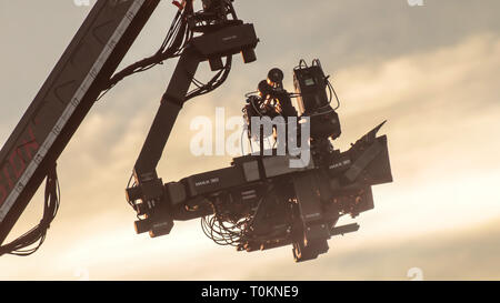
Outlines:
{"label": "entire dark camera crane, including boom, hanging arm, cables and camera rig", "polygon": [[[292,245],[296,261],[306,261],[326,253],[331,236],[359,229],[337,223],[344,214],[371,210],[371,185],[392,181],[387,138],[377,137],[383,123],[348,151],[334,150],[331,140],[341,133],[340,103],[319,60],[310,67],[302,60],[293,69],[294,93],[283,88],[283,72],[272,69],[258,93],[247,95],[243,113],[249,139],[260,143],[258,153],[179,182],[163,183],[158,176],[156,168],[184,102],[219,88],[231,71],[233,54],[241,53],[246,63],[257,59],[254,28],[238,19],[232,2],[202,0],[203,9],[194,11],[193,0],[173,1],[179,10],[160,49],[116,73],[159,0],[94,4],[0,152],[0,244],[47,176],[42,220],[0,246],[0,255],[31,254],[43,242],[59,208],[56,161],[96,100],[126,77],[176,57],[177,68],[126,190],[138,214],[138,233],[164,235],[174,220],[201,218],[203,232],[219,244],[248,252]],[[214,72],[207,83],[194,78],[203,61]],[[191,84],[196,88],[189,91]],[[269,133],[263,124],[259,131],[251,128],[256,119],[266,118],[271,121]],[[296,132],[286,140],[278,137],[277,149],[266,151],[264,139],[279,129]]]}

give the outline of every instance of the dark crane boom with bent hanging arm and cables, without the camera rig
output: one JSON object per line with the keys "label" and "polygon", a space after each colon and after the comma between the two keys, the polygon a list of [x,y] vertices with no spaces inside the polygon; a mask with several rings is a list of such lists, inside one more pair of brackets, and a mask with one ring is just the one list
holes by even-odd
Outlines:
{"label": "dark crane boom with bent hanging arm and cables, without the camera rig", "polygon": [[[229,75],[232,54],[256,60],[258,39],[252,24],[236,16],[230,0],[174,1],[179,8],[167,37],[153,55],[117,72],[117,67],[149,20],[160,0],[99,0],[0,152],[0,244],[48,175],[46,208],[40,224],[9,244],[0,255],[30,254],[41,244],[59,205],[56,160],[96,100],[119,81],[162,61],[180,57],[139,156],[134,174],[141,198],[153,201],[158,192],[156,165],[182,103],[220,87]],[[226,62],[222,62],[224,58]],[[208,83],[193,77],[209,61],[217,73]],[[188,92],[191,83],[197,88]],[[54,170],[54,169],[53,169]],[[160,182],[159,182],[160,181]],[[52,201],[52,202],[51,202]]]}

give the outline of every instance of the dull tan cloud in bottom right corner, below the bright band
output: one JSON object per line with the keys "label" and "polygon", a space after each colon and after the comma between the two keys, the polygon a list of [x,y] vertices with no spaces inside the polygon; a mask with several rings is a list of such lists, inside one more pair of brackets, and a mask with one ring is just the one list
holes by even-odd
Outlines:
{"label": "dull tan cloud in bottom right corner, below the bright band", "polygon": [[[448,230],[406,240],[386,240],[342,250],[342,239],[330,241],[330,252],[313,262],[291,265],[278,261],[266,271],[250,271],[248,280],[499,280],[500,221],[473,229]],[[356,234],[352,236],[357,236]]]}

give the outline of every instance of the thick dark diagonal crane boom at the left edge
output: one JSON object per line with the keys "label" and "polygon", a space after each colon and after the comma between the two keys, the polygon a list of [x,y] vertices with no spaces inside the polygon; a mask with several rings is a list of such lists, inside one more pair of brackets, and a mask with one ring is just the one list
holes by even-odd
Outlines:
{"label": "thick dark diagonal crane boom at the left edge", "polygon": [[[0,151],[0,244],[128,52],[159,0],[98,1]],[[50,181],[50,182],[49,182]],[[57,180],[56,180],[57,181]],[[46,196],[43,218],[56,214]],[[57,208],[56,208],[57,209]],[[42,241],[51,220],[0,246],[4,253]],[[43,223],[43,224],[42,224]]]}

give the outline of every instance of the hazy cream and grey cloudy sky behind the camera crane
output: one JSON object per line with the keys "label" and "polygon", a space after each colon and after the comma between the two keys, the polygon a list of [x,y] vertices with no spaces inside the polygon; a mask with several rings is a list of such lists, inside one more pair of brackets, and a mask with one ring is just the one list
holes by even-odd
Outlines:
{"label": "hazy cream and grey cloudy sky behind the camera crane", "polygon": [[[90,1],[94,3],[94,1]],[[199,2],[199,1],[198,1]],[[311,3],[312,2],[312,3]],[[199,3],[198,3],[199,4]],[[243,253],[204,238],[199,221],[170,235],[137,235],[124,201],[174,61],[118,84],[98,102],[58,161],[61,209],[29,257],[2,256],[1,280],[426,280],[500,279],[500,3],[496,0],[237,0],[256,24],[258,61],[238,58],[228,81],[181,112],[158,173],[163,181],[228,166],[194,156],[199,115],[239,115],[269,69],[320,58],[341,100],[349,143],[383,120],[394,182],[373,188],[376,208],[357,233],[297,264],[291,248]],[[3,144],[90,11],[71,0],[0,0],[0,143]],[[162,1],[122,62],[153,53],[176,10]],[[203,63],[200,79],[210,72]],[[12,232],[41,216],[38,193]],[[351,220],[346,220],[351,222]],[[414,277],[414,276],[413,276]]]}

